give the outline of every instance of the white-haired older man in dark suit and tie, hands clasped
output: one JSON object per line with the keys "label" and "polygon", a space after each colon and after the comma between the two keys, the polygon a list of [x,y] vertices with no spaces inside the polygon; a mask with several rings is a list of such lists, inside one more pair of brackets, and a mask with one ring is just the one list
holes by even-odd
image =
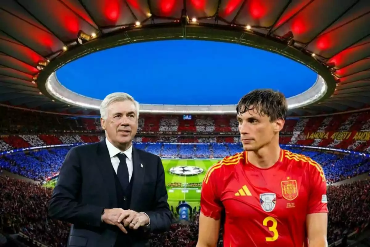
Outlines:
{"label": "white-haired older man in dark suit and tie, hands clasped", "polygon": [[105,140],[68,152],[49,215],[72,223],[68,247],[149,246],[148,234],[171,223],[162,161],[132,146],[139,104],[130,95],[108,95],[100,114]]}

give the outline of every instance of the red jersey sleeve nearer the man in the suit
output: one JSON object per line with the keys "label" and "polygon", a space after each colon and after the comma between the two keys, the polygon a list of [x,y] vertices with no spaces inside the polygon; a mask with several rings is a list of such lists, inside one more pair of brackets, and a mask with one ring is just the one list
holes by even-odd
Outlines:
{"label": "red jersey sleeve nearer the man in the suit", "polygon": [[206,217],[219,220],[221,218],[222,204],[218,193],[219,180],[216,178],[213,166],[208,170],[203,180],[201,191],[201,212]]}

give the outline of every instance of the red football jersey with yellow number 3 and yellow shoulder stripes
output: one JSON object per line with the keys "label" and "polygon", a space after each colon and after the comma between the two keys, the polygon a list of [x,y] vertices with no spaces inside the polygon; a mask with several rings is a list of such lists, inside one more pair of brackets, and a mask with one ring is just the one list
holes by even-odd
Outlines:
{"label": "red football jersey with yellow number 3 and yellow shoulder stripes", "polygon": [[283,149],[267,169],[247,156],[223,158],[203,180],[201,212],[217,220],[225,210],[223,246],[308,246],[307,214],[328,212],[322,167]]}

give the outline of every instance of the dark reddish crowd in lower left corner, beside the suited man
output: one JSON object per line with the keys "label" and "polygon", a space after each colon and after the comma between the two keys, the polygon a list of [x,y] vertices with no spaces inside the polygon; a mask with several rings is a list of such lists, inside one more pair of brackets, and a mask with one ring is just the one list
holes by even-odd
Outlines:
{"label": "dark reddish crowd in lower left corner, beside the suited man", "polygon": [[0,176],[0,232],[28,237],[52,247],[67,243],[67,223],[48,218],[51,189]]}

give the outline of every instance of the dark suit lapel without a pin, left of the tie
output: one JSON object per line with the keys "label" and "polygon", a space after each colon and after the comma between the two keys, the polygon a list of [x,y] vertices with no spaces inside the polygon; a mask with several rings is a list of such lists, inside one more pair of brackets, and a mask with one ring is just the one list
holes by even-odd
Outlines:
{"label": "dark suit lapel without a pin, left of the tie", "polygon": [[105,140],[100,141],[98,145],[98,159],[97,164],[100,169],[100,174],[103,177],[105,184],[105,191],[108,192],[110,199],[110,206],[117,207],[117,194],[115,187],[114,175],[112,172],[112,162],[109,156],[107,144]]}

